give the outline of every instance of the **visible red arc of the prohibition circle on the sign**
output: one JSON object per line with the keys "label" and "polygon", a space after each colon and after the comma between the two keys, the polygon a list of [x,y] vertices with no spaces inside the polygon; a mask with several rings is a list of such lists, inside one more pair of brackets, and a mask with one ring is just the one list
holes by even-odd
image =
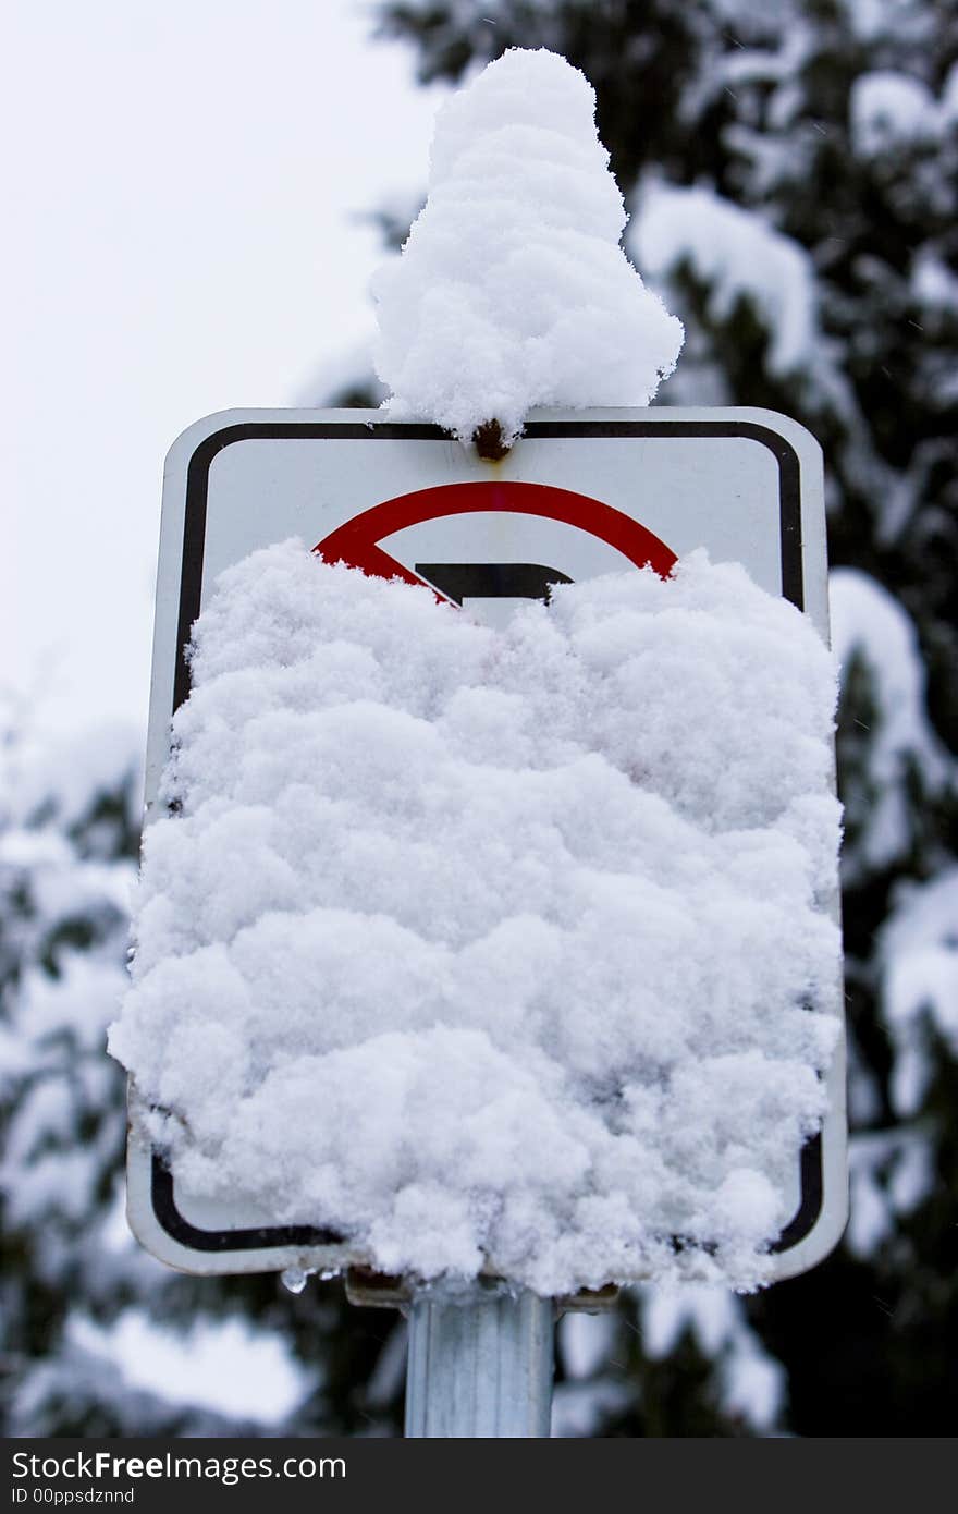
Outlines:
{"label": "visible red arc of the prohibition circle on the sign", "polygon": [[677,562],[670,547],[611,504],[590,500],[586,494],[574,494],[572,489],[555,489],[545,483],[515,483],[505,478],[443,483],[433,489],[400,494],[395,500],[374,504],[372,509],[337,525],[316,542],[313,551],[327,563],[344,562],[347,568],[359,568],[374,578],[404,578],[406,583],[421,584],[422,578],[383,551],[380,539],[407,525],[418,525],[419,521],[434,521],[443,515],[474,515],[478,510],[542,515],[549,521],[577,525],[589,536],[608,542],[636,568],[654,568],[661,578],[667,578]]}

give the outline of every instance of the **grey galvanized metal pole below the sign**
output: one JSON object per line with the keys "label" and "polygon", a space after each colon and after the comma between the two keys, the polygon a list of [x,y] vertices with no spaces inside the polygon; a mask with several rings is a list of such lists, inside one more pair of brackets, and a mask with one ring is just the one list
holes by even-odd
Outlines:
{"label": "grey galvanized metal pole below the sign", "polygon": [[554,1313],[528,1291],[413,1296],[406,1435],[548,1438]]}

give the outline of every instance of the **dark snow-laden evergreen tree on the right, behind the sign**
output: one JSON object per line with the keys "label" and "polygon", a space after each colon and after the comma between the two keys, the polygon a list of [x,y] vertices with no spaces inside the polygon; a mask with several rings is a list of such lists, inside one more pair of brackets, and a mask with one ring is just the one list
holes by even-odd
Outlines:
{"label": "dark snow-laden evergreen tree on the right, behind the sign", "polygon": [[627,247],[686,321],[660,400],[784,410],[826,456],[852,1223],[829,1263],[745,1302],[646,1293],[617,1328],[568,1322],[560,1428],[946,1432],[958,18],[935,0],[392,0],[380,29],[424,82],[513,45],[580,67],[631,186]]}

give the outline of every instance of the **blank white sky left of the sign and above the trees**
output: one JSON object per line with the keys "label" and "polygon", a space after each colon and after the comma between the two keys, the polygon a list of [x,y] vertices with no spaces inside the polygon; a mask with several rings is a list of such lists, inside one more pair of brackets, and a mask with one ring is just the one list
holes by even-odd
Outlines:
{"label": "blank white sky left of the sign and above the trees", "polygon": [[436,91],[356,0],[15,0],[0,138],[0,690],[145,727],[162,462],[292,404],[371,327],[377,233]]}

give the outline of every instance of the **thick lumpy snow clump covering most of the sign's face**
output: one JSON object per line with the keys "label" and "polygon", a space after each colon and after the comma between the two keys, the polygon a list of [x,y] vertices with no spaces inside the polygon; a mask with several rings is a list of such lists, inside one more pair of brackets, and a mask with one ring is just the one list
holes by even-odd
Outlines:
{"label": "thick lumpy snow clump covering most of the sign's face", "polygon": [[110,1039],[177,1179],[390,1273],[761,1282],[837,1023],[799,612],[696,554],[492,630],[288,542],[192,678]]}

